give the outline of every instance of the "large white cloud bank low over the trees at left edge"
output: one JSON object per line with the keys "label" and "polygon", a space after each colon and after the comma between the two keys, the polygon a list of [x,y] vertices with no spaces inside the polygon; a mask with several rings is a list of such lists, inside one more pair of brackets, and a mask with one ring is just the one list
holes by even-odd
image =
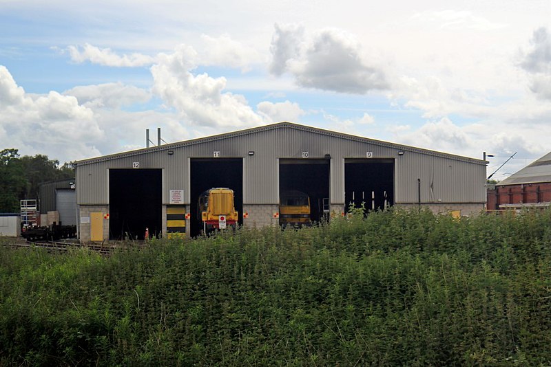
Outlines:
{"label": "large white cloud bank low over the trees at left edge", "polygon": [[0,66],[0,146],[68,162],[145,148],[145,129],[162,128],[166,142],[196,137],[174,113],[118,109],[148,99],[148,92],[120,83],[75,87],[63,94],[25,93]]}

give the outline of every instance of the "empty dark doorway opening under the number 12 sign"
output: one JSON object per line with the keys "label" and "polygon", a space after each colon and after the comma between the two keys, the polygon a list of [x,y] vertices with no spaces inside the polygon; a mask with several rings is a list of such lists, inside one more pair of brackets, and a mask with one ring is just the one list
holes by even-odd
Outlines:
{"label": "empty dark doorway opening under the number 12 sign", "polygon": [[109,170],[110,240],[158,236],[162,228],[163,175],[160,169]]}

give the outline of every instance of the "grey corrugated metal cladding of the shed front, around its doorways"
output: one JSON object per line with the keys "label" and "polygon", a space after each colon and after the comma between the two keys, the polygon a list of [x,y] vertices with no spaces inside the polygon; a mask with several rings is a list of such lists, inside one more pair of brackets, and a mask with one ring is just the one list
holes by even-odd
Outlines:
{"label": "grey corrugated metal cladding of the shed front, around its doorways", "polygon": [[[79,162],[76,166],[77,203],[108,204],[108,170],[163,168],[163,203],[169,203],[169,190],[184,190],[189,203],[189,162],[191,158],[243,158],[243,203],[278,203],[278,159],[324,159],[331,156],[331,203],[344,203],[344,159],[395,159],[395,203],[417,203],[418,179],[422,202],[484,203],[486,165],[445,153],[424,151],[408,146],[367,140],[320,131],[294,124],[264,126],[251,131],[229,133],[159,148],[121,153]],[[168,154],[171,151],[173,154]],[[254,152],[254,155],[248,153]],[[399,155],[398,152],[403,152]],[[139,168],[138,168],[139,169]]]}

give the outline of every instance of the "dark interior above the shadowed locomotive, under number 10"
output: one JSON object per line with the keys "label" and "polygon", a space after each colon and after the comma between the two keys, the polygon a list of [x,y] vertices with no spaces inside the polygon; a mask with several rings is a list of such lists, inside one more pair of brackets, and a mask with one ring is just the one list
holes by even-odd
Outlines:
{"label": "dark interior above the shadowed locomotive, under number 10", "polygon": [[324,199],[329,199],[329,159],[280,159],[280,195],[287,190],[308,194],[310,219],[320,222]]}

